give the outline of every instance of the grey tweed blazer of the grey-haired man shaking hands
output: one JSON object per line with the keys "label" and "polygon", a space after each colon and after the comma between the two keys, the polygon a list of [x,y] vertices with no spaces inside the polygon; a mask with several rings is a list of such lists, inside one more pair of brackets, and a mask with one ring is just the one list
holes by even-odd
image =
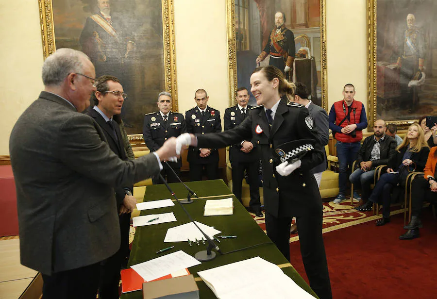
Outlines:
{"label": "grey tweed blazer of the grey-haired man shaking hands", "polygon": [[9,151],[21,264],[50,275],[98,263],[120,247],[113,186],[159,173],[156,157],[122,161],[97,122],[41,92],[18,118]]}

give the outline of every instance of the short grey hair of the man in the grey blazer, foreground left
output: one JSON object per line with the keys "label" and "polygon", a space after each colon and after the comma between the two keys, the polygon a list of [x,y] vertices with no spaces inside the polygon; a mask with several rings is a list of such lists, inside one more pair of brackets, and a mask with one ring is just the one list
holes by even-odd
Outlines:
{"label": "short grey hair of the man in the grey blazer, foreground left", "polygon": [[45,86],[60,85],[69,73],[81,73],[84,59],[90,60],[83,52],[73,49],[58,49],[44,61],[42,80]]}

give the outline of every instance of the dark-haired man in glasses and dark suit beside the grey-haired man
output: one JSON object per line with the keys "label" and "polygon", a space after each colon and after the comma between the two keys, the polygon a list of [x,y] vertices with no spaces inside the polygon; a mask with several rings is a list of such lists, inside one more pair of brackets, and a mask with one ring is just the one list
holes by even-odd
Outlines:
{"label": "dark-haired man in glasses and dark suit beside the grey-haired man", "polygon": [[[85,114],[91,116],[101,127],[111,150],[123,161],[129,160],[124,150],[123,136],[120,131],[120,112],[127,95],[114,76],[101,76],[97,79],[97,91],[93,96],[94,107],[88,107]],[[102,279],[99,286],[99,298],[118,298],[120,267],[129,259],[129,226],[131,212],[136,205],[133,196],[134,186],[115,188],[118,220],[120,224],[120,249],[102,266]]]}

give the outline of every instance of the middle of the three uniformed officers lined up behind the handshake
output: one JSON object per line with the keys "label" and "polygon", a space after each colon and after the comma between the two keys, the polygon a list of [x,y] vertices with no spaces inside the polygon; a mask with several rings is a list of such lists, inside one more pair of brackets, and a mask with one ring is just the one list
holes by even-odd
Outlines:
{"label": "middle of the three uniformed officers lined up behind the handshake", "polygon": [[[204,89],[194,93],[197,107],[185,112],[186,132],[213,133],[221,132],[220,112],[208,106],[208,94]],[[190,181],[202,181],[203,166],[208,180],[218,178],[218,150],[213,148],[190,147],[187,161],[190,164]]]}

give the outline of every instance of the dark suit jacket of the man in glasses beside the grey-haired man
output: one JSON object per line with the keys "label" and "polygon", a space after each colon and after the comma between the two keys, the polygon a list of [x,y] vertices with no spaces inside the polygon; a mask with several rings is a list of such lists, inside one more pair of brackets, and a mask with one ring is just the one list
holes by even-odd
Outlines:
{"label": "dark suit jacket of the man in glasses beside the grey-haired man", "polygon": [[[126,155],[126,151],[124,150],[123,136],[121,135],[120,127],[117,121],[115,120],[115,118],[113,124],[114,124],[114,129],[117,133],[117,139],[114,136],[113,133],[114,131],[112,130],[112,128],[108,125],[105,119],[99,114],[99,112],[93,109],[93,107],[91,106],[88,107],[88,109],[85,110],[84,114],[91,116],[103,129],[103,133],[105,134],[109,147],[118,156],[118,158],[120,158],[123,161],[129,160],[128,156]],[[134,185],[115,187],[118,207],[123,203],[123,199],[126,196],[126,190],[130,190],[132,193],[134,193]]]}

